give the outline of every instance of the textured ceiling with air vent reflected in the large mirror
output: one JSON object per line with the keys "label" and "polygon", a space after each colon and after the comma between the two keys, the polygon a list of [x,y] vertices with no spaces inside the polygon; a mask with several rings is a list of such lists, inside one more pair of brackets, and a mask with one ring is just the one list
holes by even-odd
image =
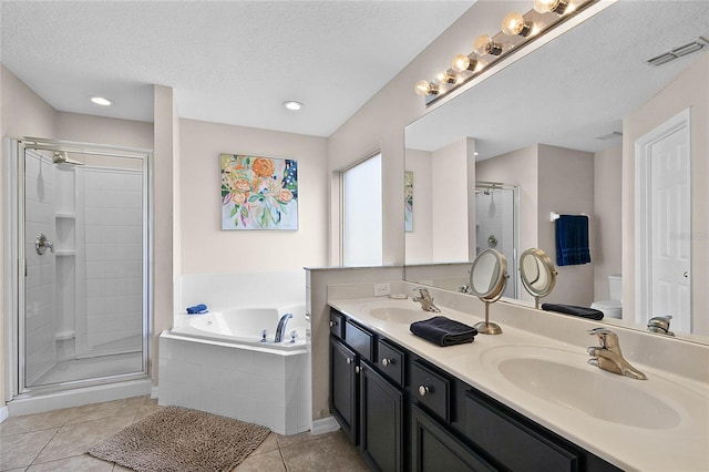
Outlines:
{"label": "textured ceiling with air vent reflected in the large mirror", "polygon": [[[620,145],[623,119],[700,54],[648,59],[709,39],[709,1],[619,1],[407,127],[407,147],[475,137],[479,160],[534,143],[597,152]],[[706,86],[709,86],[707,84]]]}

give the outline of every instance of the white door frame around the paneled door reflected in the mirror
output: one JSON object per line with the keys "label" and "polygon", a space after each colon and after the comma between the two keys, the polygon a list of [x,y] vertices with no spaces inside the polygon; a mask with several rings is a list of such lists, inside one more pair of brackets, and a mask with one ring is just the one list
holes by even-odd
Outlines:
{"label": "white door frame around the paneled door reflected in the mirror", "polygon": [[[635,321],[647,324],[650,317],[650,293],[653,284],[651,247],[651,146],[680,131],[687,133],[689,150],[689,215],[691,228],[691,109],[685,109],[671,119],[656,126],[635,142]],[[680,235],[681,237],[681,235]],[[689,273],[691,274],[691,238],[689,239]],[[691,277],[691,276],[690,276]],[[691,322],[691,279],[689,285],[689,322]]]}

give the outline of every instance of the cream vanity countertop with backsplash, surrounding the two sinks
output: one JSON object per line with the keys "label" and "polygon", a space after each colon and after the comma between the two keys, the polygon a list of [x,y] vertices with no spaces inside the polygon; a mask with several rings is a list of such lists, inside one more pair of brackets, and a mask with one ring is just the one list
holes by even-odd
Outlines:
{"label": "cream vanity countertop with backsplash, surrounding the two sinks", "polygon": [[[403,284],[402,288],[407,291],[409,287]],[[349,290],[340,286],[337,290],[328,291],[341,296]],[[443,315],[469,325],[481,320],[482,304],[476,299],[435,289],[430,291]],[[597,340],[586,334],[587,329],[599,326],[595,321],[541,312],[511,304],[496,304],[491,310],[492,320],[502,325],[502,335],[479,335],[472,345],[440,348],[411,335],[408,322],[383,321],[369,312],[377,306],[418,310],[418,305],[410,299],[394,301],[387,297],[340,297],[330,299],[329,304],[465,383],[624,470],[709,470],[709,451],[706,447],[709,442],[707,346],[614,327],[626,359],[648,376],[648,380],[640,381],[600,371],[586,363],[586,348],[597,345]],[[423,314],[423,317],[428,316],[429,314]],[[590,369],[593,374],[598,376],[599,396],[610,394],[612,389],[606,389],[606,386],[620,382],[619,387],[626,387],[625,382],[630,382],[627,387],[644,390],[643,393],[671,406],[679,413],[679,420],[647,428],[594,418],[516,388],[501,374],[494,362],[490,362],[494,352],[504,349],[516,350],[526,358],[527,353],[528,357],[534,357],[535,349],[540,348],[563,350],[572,357],[578,353],[578,366],[574,368]],[[610,397],[606,400],[627,401]],[[647,417],[651,419],[666,413],[668,412],[647,411]]]}

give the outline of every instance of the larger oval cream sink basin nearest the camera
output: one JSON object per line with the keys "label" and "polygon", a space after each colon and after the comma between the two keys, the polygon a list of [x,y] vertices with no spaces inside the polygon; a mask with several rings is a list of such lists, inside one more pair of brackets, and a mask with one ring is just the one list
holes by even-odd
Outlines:
{"label": "larger oval cream sink basin nearest the camera", "polygon": [[586,363],[586,356],[542,347],[490,351],[487,361],[507,382],[555,406],[643,429],[669,429],[681,422],[672,406],[653,394],[649,381],[602,371]]}

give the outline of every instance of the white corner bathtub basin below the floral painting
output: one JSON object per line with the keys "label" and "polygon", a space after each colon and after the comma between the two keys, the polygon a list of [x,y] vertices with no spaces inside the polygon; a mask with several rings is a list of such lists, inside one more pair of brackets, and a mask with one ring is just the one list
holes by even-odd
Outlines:
{"label": "white corner bathtub basin below the floral painting", "polygon": [[[281,341],[275,342],[276,328],[280,318],[291,314],[286,324]],[[266,341],[261,332],[266,330]],[[275,350],[298,350],[306,346],[306,308],[305,305],[284,307],[228,308],[204,315],[179,315],[175,319],[172,334],[215,341],[226,341],[255,348]],[[291,332],[296,331],[295,342]]]}

